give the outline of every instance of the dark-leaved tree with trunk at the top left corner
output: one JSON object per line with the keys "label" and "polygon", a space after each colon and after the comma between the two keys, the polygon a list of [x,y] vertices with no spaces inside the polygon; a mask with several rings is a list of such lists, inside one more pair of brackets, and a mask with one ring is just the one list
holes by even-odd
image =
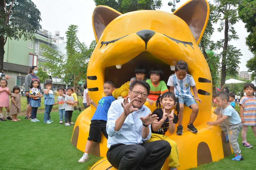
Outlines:
{"label": "dark-leaved tree with trunk at the top left corner", "polygon": [[31,0],[0,0],[0,70],[3,69],[7,37],[33,40],[41,29],[40,11]]}

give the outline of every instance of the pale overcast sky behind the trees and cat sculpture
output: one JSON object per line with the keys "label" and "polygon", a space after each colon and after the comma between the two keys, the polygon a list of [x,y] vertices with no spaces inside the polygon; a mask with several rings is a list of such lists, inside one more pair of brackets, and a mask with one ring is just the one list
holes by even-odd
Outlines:
{"label": "pale overcast sky behind the trees and cat sculpture", "polygon": [[[61,36],[65,36],[65,32],[69,25],[78,25],[78,38],[81,42],[86,43],[88,46],[91,41],[95,40],[93,29],[92,29],[92,12],[95,8],[95,3],[93,0],[54,0],[54,1],[42,1],[42,0],[32,0],[37,8],[41,12],[41,25],[42,29],[48,30],[54,34],[55,31],[60,31]],[[168,6],[169,0],[162,0],[163,6],[161,11],[171,12],[171,7]],[[176,9],[184,4],[186,0],[181,0],[176,3]],[[210,2],[213,2],[212,0]],[[217,31],[218,24],[215,25],[215,32],[212,35],[212,40],[215,42],[224,37],[224,33]],[[252,53],[248,50],[246,46],[245,38],[248,36],[246,29],[244,28],[244,23],[239,21],[234,25],[235,30],[239,36],[238,41],[231,41],[230,43],[241,49],[240,59],[240,71],[247,71],[246,61],[253,57]],[[217,51],[218,53],[220,51]]]}

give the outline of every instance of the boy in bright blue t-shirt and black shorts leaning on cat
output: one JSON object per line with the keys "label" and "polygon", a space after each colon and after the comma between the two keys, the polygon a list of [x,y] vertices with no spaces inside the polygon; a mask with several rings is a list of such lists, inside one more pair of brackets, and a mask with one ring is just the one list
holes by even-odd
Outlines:
{"label": "boy in bright blue t-shirt and black shorts leaning on cat", "polygon": [[106,124],[108,119],[109,107],[111,103],[115,100],[115,98],[112,96],[114,87],[114,82],[109,80],[104,82],[103,90],[106,96],[102,97],[99,100],[98,105],[95,104],[91,98],[89,98],[89,103],[96,108],[96,111],[91,119],[89,137],[87,139],[84,154],[82,158],[79,159],[78,163],[84,163],[89,159],[89,149],[92,146],[93,141],[101,142],[101,132],[108,139],[108,134],[106,132]]}

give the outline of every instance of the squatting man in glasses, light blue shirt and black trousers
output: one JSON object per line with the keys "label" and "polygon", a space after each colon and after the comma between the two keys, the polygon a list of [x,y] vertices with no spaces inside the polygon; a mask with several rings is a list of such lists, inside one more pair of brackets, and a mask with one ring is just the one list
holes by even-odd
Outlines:
{"label": "squatting man in glasses, light blue shirt and black trousers", "polygon": [[149,90],[145,81],[135,80],[128,97],[113,101],[109,108],[107,159],[119,170],[160,170],[170,154],[170,144],[164,140],[145,143],[151,137],[151,124],[158,123],[153,122],[157,115],[144,105]]}

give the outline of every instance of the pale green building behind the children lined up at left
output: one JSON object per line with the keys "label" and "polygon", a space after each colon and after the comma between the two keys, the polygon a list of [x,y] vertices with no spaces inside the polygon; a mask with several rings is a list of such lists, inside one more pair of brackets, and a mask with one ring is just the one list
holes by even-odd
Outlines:
{"label": "pale green building behind the children lined up at left", "polygon": [[[66,53],[64,50],[66,47],[65,42],[59,43],[59,39],[64,40],[64,37],[52,36],[47,30],[39,30],[35,34],[34,40],[24,41],[22,38],[17,41],[14,39],[7,38],[6,44],[4,46],[4,73],[12,76],[8,80],[8,87],[12,89],[14,86],[20,86],[24,88],[25,77],[31,66],[38,66],[40,62],[48,62],[46,58],[42,57],[44,52],[40,45],[46,44],[47,46],[59,50],[62,53]],[[58,40],[58,41],[57,41]],[[58,43],[56,43],[58,42]],[[44,69],[44,71],[47,71]],[[58,88],[58,86],[66,86],[61,82],[61,78],[51,77],[54,81],[53,88]],[[41,82],[43,86],[44,82]],[[56,86],[56,87],[55,87]]]}

